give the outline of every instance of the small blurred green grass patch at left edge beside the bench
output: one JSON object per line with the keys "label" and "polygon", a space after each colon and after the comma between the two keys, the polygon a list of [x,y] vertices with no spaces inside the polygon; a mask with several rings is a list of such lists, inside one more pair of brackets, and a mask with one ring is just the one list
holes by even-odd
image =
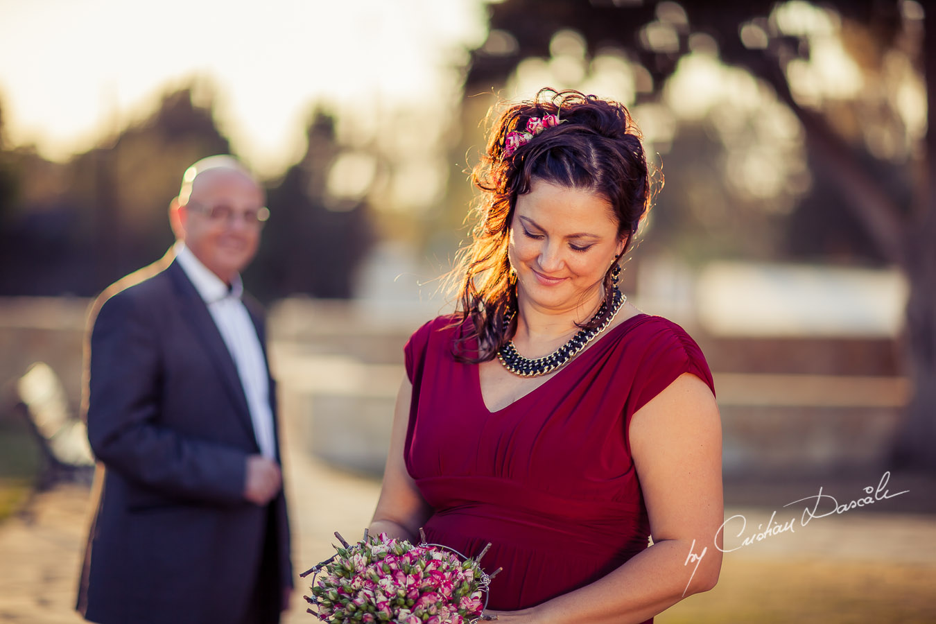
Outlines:
{"label": "small blurred green grass patch at left edge beside the bench", "polygon": [[41,459],[25,423],[0,421],[0,522],[28,498]]}

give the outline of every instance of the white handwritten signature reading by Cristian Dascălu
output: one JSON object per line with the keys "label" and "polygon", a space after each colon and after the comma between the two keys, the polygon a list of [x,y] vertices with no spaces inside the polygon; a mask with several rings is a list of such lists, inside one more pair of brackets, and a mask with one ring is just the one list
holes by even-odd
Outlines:
{"label": "white handwritten signature reading by Cristian Dasc\u0103lu", "polygon": [[[741,514],[732,515],[730,518],[725,520],[722,523],[722,526],[719,527],[715,532],[715,547],[721,550],[723,553],[730,553],[735,550],[739,550],[744,546],[750,546],[751,544],[755,544],[757,542],[763,542],[768,537],[773,537],[774,535],[779,535],[780,533],[785,533],[787,531],[795,533],[797,532],[796,527],[805,527],[810,523],[811,520],[816,518],[823,518],[833,514],[845,514],[852,511],[853,509],[858,509],[859,507],[868,507],[875,502],[893,499],[910,491],[909,489],[905,489],[902,492],[891,494],[887,489],[888,481],[890,481],[890,471],[885,472],[881,476],[881,481],[878,483],[877,487],[867,486],[864,488],[864,493],[866,496],[857,498],[854,501],[842,503],[840,503],[834,496],[824,493],[823,487],[819,486],[818,494],[807,496],[804,499],[788,502],[783,505],[785,508],[790,507],[791,505],[796,505],[800,502],[805,502],[806,506],[803,509],[803,514],[799,518],[797,518],[796,515],[793,515],[793,517],[791,517],[789,520],[786,520],[785,522],[775,522],[774,519],[777,517],[777,512],[774,511],[770,515],[770,519],[768,520],[766,527],[763,524],[759,524],[757,525],[757,530],[752,531],[743,540],[741,540],[740,545],[733,548],[724,548],[724,546],[719,544],[719,537],[722,536],[723,533],[728,532],[729,527],[730,530],[738,530],[738,532],[735,534],[736,538],[741,537],[741,535],[744,535],[747,532],[748,519]],[[687,557],[685,562],[682,564],[686,566],[690,563],[695,563],[693,573],[689,576],[689,583],[693,582],[695,571],[698,569],[699,563],[702,562],[702,559],[706,556],[708,551],[709,547],[706,546],[702,549],[702,552],[695,553],[695,540],[693,540],[693,544],[689,547],[689,557]],[[686,590],[689,589],[689,583],[686,583],[686,589],[682,591],[683,596],[685,595]]]}

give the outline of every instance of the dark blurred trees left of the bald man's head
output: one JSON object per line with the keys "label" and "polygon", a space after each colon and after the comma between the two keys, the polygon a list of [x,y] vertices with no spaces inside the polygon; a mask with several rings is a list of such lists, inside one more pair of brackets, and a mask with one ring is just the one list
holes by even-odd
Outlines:
{"label": "dark blurred trees left of the bald man's head", "polygon": [[229,149],[210,90],[197,106],[183,88],[66,164],[0,150],[0,293],[92,296],[153,262],[172,241],[168,202],[185,168]]}

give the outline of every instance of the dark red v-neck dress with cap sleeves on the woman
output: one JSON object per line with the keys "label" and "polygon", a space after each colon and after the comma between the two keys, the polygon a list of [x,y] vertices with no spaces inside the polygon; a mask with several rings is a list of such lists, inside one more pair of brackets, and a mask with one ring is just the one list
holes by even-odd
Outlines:
{"label": "dark red v-neck dress with cap sleeves on the woman", "polygon": [[466,556],[490,542],[482,566],[504,568],[490,584],[488,606],[498,610],[581,588],[646,548],[650,524],[627,428],[684,372],[714,392],[695,341],[675,323],[638,314],[491,413],[477,365],[451,355],[461,327],[436,318],[404,348],[413,399],[403,452],[434,510],[429,541]]}

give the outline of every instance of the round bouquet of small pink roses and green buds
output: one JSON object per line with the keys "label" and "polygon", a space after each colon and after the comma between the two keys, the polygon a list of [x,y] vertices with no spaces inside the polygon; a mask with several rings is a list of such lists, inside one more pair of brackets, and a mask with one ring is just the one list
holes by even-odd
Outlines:
{"label": "round bouquet of small pink roses and green buds", "polygon": [[[460,557],[451,549],[422,541],[364,538],[348,544],[312,570],[312,597],[305,596],[317,609],[309,613],[331,624],[468,624],[484,611],[482,596],[493,574],[481,570],[479,561],[488,548],[474,559]],[[490,544],[489,544],[490,546]]]}

